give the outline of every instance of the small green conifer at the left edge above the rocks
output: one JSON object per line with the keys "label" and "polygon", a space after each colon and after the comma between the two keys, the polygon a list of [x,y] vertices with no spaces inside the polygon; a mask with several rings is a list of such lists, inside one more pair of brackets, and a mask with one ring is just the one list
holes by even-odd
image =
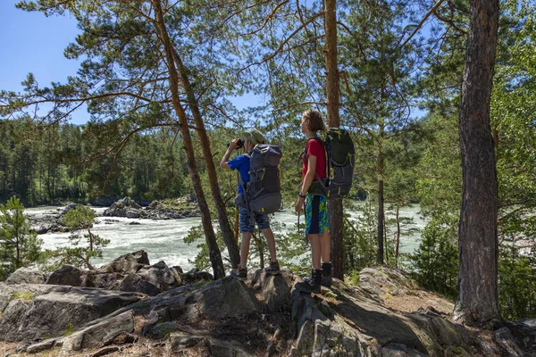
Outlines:
{"label": "small green conifer at the left edge above the rocks", "polygon": [[0,204],[0,280],[14,270],[38,262],[43,241],[29,229],[19,198],[13,196]]}

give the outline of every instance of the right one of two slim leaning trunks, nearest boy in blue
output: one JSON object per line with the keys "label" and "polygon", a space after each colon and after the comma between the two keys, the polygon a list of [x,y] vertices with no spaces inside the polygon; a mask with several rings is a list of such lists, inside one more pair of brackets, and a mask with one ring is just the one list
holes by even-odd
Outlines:
{"label": "right one of two slim leaning trunks, nearest boy in blue", "polygon": [[[206,171],[208,173],[208,182],[210,184],[210,190],[216,206],[216,212],[218,213],[218,221],[220,223],[220,229],[222,230],[222,238],[225,245],[227,245],[227,251],[229,252],[230,264],[233,269],[239,268],[240,264],[240,252],[239,245],[234,239],[232,228],[230,228],[229,217],[223,202],[222,192],[220,191],[220,183],[218,182],[218,175],[216,173],[216,167],[214,166],[214,159],[212,150],[210,149],[210,139],[206,135],[205,122],[199,112],[199,106],[197,105],[196,95],[190,85],[188,79],[188,70],[182,63],[180,55],[177,51],[173,50],[175,62],[177,63],[177,70],[180,73],[180,79],[182,86],[186,91],[188,98],[188,105],[194,121],[196,122],[197,135],[201,141],[201,148],[203,150],[203,158],[205,159]],[[263,264],[261,264],[263,266]]]}

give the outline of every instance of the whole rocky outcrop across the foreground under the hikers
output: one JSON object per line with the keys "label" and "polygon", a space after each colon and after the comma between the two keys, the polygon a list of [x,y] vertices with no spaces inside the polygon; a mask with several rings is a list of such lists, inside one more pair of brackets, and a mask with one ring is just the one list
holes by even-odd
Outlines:
{"label": "whole rocky outcrop across the foreground under the hikers", "polygon": [[298,278],[289,270],[275,277],[257,270],[246,283],[227,277],[174,287],[172,277],[184,275],[180,268],[149,265],[143,252],[107,264],[101,275],[114,274],[123,277],[121,284],[168,290],[149,297],[1,284],[0,338],[26,341],[20,348],[29,353],[55,348],[65,356],[86,348],[98,349],[91,355],[118,351],[114,344],[136,336],[165,341],[167,353],[185,355],[531,356],[536,350],[535,320],[507,322],[491,332],[452,323],[428,300],[414,311],[387,308],[383,301],[416,296],[418,286],[400,270],[364,270],[363,286],[333,279],[314,295],[296,290]]}

